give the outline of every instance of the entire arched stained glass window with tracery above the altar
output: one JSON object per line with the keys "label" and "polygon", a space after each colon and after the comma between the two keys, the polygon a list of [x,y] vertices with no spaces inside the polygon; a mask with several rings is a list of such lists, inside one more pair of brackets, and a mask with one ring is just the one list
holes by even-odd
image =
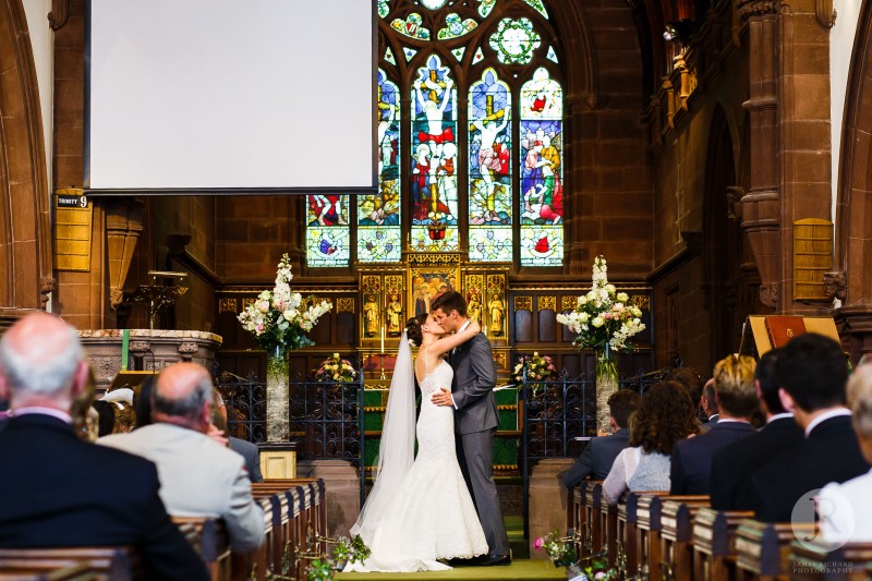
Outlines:
{"label": "entire arched stained glass window with tracery above the altar", "polygon": [[307,196],[308,266],[407,250],[561,266],[565,59],[547,0],[374,1],[378,192]]}

